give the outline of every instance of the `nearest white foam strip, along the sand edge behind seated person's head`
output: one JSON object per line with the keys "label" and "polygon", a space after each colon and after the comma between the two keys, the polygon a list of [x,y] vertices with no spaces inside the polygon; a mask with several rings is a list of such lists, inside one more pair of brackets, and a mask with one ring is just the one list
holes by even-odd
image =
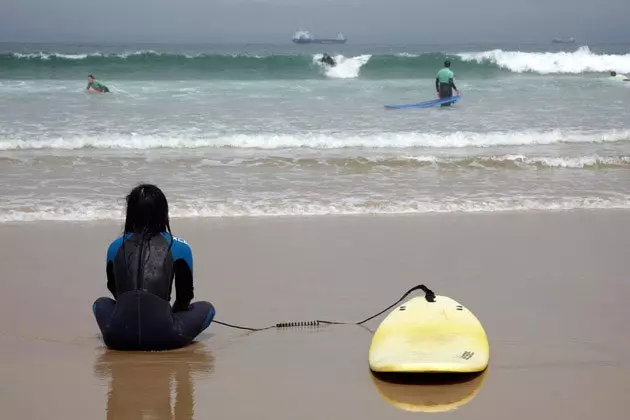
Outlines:
{"label": "nearest white foam strip, along the sand edge behind seated person's head", "polygon": [[[170,203],[169,203],[170,204]],[[184,201],[170,204],[172,218],[212,217],[272,217],[272,216],[323,216],[360,214],[423,214],[453,212],[505,212],[532,210],[577,210],[577,209],[630,209],[630,196],[615,198],[563,197],[563,198],[481,198],[443,199],[430,198],[413,201],[361,201],[342,199],[338,202],[302,202],[257,200],[217,203]],[[122,220],[122,210],[112,209],[99,201],[84,203],[60,203],[59,206],[33,205],[28,210],[0,209],[0,223],[25,221],[91,221]]]}

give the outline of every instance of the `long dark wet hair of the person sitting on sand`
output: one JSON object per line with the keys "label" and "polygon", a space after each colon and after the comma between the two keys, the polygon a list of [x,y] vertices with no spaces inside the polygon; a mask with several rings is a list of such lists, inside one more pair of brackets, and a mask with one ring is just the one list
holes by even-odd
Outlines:
{"label": "long dark wet hair of the person sitting on sand", "polygon": [[171,233],[168,201],[157,186],[140,184],[131,190],[126,200],[127,215],[124,234],[140,233],[151,237],[161,232]]}

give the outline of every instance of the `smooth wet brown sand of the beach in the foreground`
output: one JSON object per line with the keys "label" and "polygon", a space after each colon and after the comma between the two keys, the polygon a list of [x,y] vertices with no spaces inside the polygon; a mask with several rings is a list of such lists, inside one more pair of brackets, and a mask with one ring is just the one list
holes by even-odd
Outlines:
{"label": "smooth wet brown sand of the beach in the foreground", "polygon": [[109,351],[91,305],[108,296],[105,252],[121,223],[5,224],[3,419],[625,416],[630,212],[172,226],[193,247],[196,298],[215,305],[217,320],[358,321],[422,283],[477,315],[490,367],[458,384],[388,384],[369,372],[370,331],[352,325],[247,333],[212,324],[185,349]]}

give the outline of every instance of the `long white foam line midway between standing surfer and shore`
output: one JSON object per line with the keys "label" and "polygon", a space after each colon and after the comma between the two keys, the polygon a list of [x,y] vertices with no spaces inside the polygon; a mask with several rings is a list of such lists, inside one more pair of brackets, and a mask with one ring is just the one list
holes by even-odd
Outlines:
{"label": "long white foam line midway between standing surfer and shore", "polygon": [[379,133],[330,136],[316,133],[304,134],[226,134],[209,136],[106,134],[97,136],[0,139],[0,150],[21,149],[155,149],[201,147],[233,148],[317,148],[337,149],[348,147],[368,148],[462,148],[490,146],[548,145],[557,143],[606,143],[630,140],[630,130],[610,131],[522,131],[476,133],[457,131],[452,133]]}

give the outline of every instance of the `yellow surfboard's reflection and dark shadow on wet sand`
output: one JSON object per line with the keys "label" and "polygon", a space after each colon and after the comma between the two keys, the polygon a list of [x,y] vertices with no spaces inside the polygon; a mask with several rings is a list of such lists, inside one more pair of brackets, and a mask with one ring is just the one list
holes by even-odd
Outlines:
{"label": "yellow surfboard's reflection and dark shadow on wet sand", "polygon": [[438,413],[470,402],[483,385],[488,369],[475,374],[383,375],[372,374],[379,394],[405,411]]}

